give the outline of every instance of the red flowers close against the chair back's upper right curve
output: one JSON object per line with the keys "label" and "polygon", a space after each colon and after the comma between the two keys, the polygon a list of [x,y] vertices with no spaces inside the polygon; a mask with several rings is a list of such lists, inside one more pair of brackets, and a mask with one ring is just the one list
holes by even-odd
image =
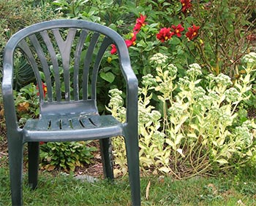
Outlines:
{"label": "red flowers close against the chair back's upper right curve", "polygon": [[[136,20],[135,27],[133,28],[133,33],[131,34],[131,39],[125,40],[125,43],[127,44],[128,48],[136,44],[135,41],[136,41],[137,33],[140,31],[141,27],[146,25],[145,20],[146,20],[146,16],[144,15],[140,15],[140,17],[138,17],[138,19]],[[112,44],[111,47],[112,47],[110,51],[111,55],[116,54],[116,51],[117,51],[116,45]]]}

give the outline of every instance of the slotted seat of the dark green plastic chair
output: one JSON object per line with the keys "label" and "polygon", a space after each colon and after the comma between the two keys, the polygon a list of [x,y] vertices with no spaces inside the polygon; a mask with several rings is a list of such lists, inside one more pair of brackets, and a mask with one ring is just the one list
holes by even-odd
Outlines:
{"label": "slotted seat of the dark green plastic chair", "polygon": [[23,128],[24,142],[91,140],[123,135],[123,124],[111,115],[64,114],[29,119]]}

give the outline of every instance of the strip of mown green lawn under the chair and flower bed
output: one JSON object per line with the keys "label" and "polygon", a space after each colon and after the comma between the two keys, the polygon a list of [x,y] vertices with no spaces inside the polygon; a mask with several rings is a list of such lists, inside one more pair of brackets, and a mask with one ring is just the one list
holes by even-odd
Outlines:
{"label": "strip of mown green lawn under the chair and flower bed", "polygon": [[[241,175],[217,178],[195,177],[176,181],[170,177],[141,178],[142,205],[256,205],[256,177]],[[97,181],[81,182],[72,175],[53,176],[39,174],[39,185],[34,191],[23,186],[24,205],[130,205],[127,177],[114,183]],[[146,187],[150,181],[148,199]],[[7,167],[0,168],[0,205],[11,205],[10,183]]]}

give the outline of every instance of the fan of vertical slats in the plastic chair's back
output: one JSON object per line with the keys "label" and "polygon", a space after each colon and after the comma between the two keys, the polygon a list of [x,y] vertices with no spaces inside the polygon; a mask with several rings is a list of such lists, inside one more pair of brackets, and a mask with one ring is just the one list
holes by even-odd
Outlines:
{"label": "fan of vertical slats in the plastic chair's back", "polygon": [[59,102],[97,98],[99,66],[112,43],[108,36],[85,28],[50,28],[31,34],[18,47],[34,70],[39,100]]}

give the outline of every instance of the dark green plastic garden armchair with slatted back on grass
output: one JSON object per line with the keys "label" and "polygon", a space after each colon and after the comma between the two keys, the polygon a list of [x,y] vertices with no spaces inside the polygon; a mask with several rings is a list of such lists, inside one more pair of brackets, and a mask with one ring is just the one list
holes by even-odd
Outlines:
{"label": "dark green plastic garden armchair with slatted back on grass", "polygon": [[[97,110],[97,75],[105,52],[115,44],[127,90],[126,122]],[[30,63],[39,89],[39,119],[18,127],[13,98],[15,58]],[[39,142],[99,139],[106,178],[113,179],[110,138],[123,136],[132,205],[140,205],[138,79],[124,40],[116,31],[85,20],[50,20],[15,33],[4,49],[2,93],[7,125],[12,205],[22,205],[23,144],[29,150],[29,186],[37,187]],[[44,75],[42,75],[42,73]],[[44,95],[45,76],[47,95]]]}

